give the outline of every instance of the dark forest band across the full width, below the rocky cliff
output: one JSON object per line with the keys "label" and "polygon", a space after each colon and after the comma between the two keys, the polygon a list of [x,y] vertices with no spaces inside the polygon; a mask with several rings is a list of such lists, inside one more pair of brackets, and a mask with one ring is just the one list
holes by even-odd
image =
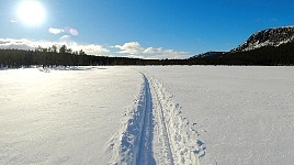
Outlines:
{"label": "dark forest band across the full width, below the rocky cliff", "polygon": [[247,52],[229,52],[220,56],[195,56],[188,59],[142,59],[87,55],[66,45],[36,47],[34,51],[0,50],[0,67],[19,68],[32,65],[97,66],[97,65],[294,65],[294,42],[279,47],[265,46]]}

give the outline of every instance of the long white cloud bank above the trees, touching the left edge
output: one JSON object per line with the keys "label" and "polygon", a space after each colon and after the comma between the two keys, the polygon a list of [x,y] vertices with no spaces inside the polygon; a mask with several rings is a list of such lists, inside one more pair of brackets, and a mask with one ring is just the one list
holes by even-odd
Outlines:
{"label": "long white cloud bank above the trees, touching the left edge", "polygon": [[30,41],[26,38],[20,38],[20,40],[0,38],[0,48],[35,50],[37,46],[50,47],[52,45],[56,45],[57,47],[60,47],[64,44],[67,45],[67,47],[71,48],[72,51],[82,50],[89,55],[108,55],[108,53],[110,53],[108,48],[97,44],[81,45],[70,41],[46,42],[46,41]]}

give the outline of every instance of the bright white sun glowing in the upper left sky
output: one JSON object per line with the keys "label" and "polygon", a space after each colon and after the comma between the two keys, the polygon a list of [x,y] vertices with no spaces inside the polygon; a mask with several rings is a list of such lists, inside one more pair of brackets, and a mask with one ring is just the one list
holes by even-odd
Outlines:
{"label": "bright white sun glowing in the upper left sky", "polygon": [[41,25],[45,19],[45,10],[37,0],[25,0],[18,7],[18,15],[26,25]]}

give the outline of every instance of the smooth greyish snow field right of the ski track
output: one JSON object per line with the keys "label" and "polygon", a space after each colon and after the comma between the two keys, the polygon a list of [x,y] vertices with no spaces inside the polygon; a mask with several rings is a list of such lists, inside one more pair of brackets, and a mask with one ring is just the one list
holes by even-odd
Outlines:
{"label": "smooth greyish snow field right of the ski track", "polygon": [[166,66],[157,77],[206,144],[201,164],[294,163],[294,67]]}

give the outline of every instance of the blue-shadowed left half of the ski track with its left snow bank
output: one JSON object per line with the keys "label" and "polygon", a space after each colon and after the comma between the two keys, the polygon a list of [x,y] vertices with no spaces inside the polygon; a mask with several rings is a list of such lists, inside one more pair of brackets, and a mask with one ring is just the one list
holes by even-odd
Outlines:
{"label": "blue-shadowed left half of the ski track with its left snow bank", "polygon": [[152,103],[148,80],[144,81],[138,98],[122,129],[110,141],[108,152],[112,152],[109,164],[155,164],[152,158]]}

